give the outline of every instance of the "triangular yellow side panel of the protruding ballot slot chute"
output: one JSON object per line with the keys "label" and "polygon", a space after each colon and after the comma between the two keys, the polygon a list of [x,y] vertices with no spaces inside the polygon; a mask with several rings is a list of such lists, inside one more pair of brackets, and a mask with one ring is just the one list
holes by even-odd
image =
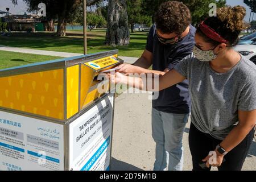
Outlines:
{"label": "triangular yellow side panel of the protruding ballot slot chute", "polygon": [[85,98],[94,79],[95,71],[84,64],[81,64],[81,88],[80,88],[80,107],[84,105]]}

